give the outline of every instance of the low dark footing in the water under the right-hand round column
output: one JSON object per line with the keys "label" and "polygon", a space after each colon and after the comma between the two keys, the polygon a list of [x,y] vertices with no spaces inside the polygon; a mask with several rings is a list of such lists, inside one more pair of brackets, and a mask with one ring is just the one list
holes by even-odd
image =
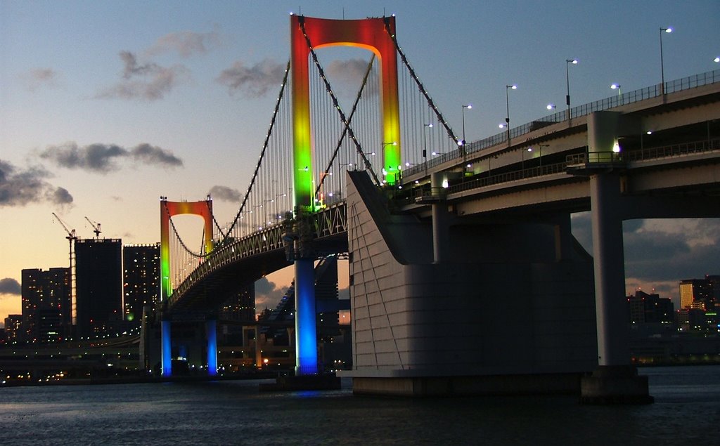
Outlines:
{"label": "low dark footing in the water under the right-hand round column", "polygon": [[582,404],[650,404],[647,376],[639,376],[634,365],[600,366],[580,381]]}

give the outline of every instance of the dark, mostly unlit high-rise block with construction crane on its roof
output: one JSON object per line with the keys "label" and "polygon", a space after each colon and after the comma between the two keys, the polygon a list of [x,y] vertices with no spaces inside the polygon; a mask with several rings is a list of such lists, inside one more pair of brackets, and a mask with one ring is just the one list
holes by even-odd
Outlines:
{"label": "dark, mostly unlit high-rise block with construction crane on its roof", "polygon": [[122,241],[76,240],[75,259],[78,336],[114,334],[122,322]]}

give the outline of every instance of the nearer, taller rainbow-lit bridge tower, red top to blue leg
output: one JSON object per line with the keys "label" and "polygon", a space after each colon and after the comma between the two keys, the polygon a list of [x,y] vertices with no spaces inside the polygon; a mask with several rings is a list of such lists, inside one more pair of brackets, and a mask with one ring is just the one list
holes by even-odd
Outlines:
{"label": "nearer, taller rainbow-lit bridge tower, red top to blue leg", "polygon": [[[294,206],[300,220],[315,211],[312,178],[312,137],[310,131],[311,50],[334,45],[361,47],[372,51],[382,66],[382,141],[383,167],[387,183],[400,179],[400,111],[397,93],[397,54],[395,17],[355,20],[318,19],[292,15],[292,119]],[[312,45],[312,47],[311,47]],[[318,373],[317,334],[315,329],[315,273],[311,255],[295,255],[295,333],[296,375]]]}

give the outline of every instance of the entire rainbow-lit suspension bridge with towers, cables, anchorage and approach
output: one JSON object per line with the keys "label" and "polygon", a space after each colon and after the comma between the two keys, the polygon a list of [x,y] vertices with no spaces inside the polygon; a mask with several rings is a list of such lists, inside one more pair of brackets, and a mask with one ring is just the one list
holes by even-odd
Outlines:
{"label": "entire rainbow-lit suspension bridge with towers, cables, anchorage and approach", "polygon": [[[466,143],[402,51],[395,17],[291,16],[290,27],[292,57],[233,221],[215,220],[210,197],[161,197],[163,375],[174,320],[201,314],[212,375],[217,306],[288,265],[296,374],[318,374],[313,267],[338,252],[351,268],[359,393],[488,391],[498,376],[557,391],[598,365],[626,370],[618,222],[720,217],[708,206],[720,189],[720,72]],[[349,104],[318,54],[333,45],[369,50]],[[588,210],[594,263],[570,234],[570,213]],[[179,214],[204,220],[199,249],[179,237]],[[647,381],[620,375],[639,386],[630,398],[647,399]]]}

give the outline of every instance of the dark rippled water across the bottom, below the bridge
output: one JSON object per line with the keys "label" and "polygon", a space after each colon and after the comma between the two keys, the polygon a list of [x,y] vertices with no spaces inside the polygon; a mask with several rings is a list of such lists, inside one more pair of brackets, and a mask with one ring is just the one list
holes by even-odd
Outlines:
{"label": "dark rippled water across the bottom, below the bridge", "polygon": [[0,388],[7,445],[717,445],[720,365],[642,368],[655,403],[260,393],[267,381]]}

